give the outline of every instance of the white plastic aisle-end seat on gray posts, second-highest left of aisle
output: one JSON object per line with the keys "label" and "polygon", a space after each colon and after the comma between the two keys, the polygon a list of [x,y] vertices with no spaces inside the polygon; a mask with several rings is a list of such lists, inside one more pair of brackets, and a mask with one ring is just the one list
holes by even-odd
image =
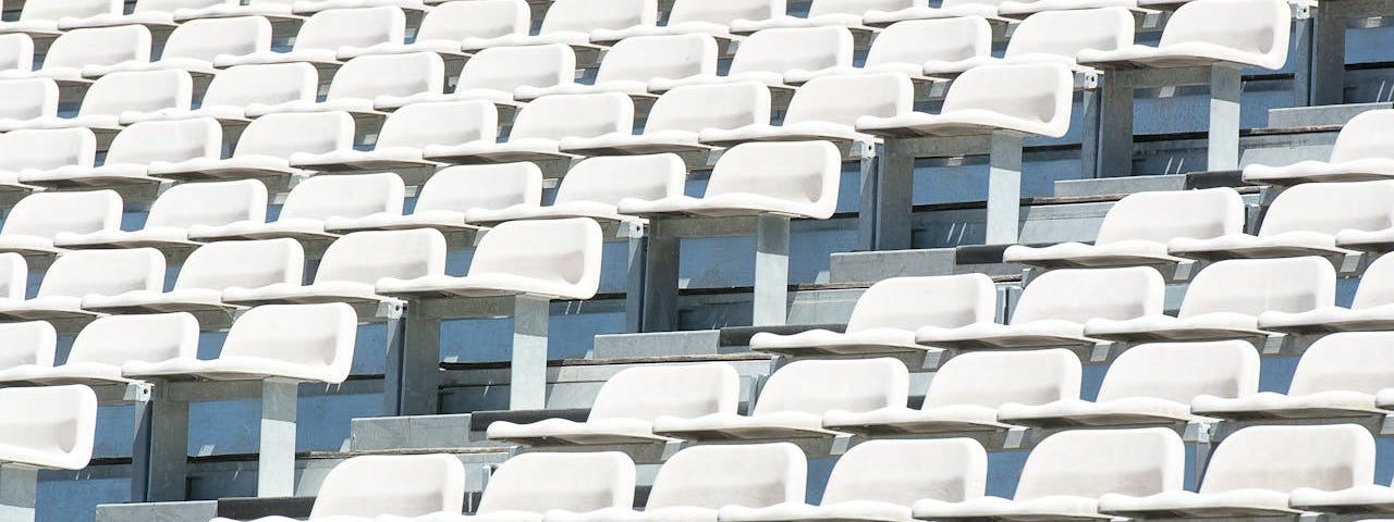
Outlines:
{"label": "white plastic aisle-end seat on gray posts, second-highest left of aisle", "polygon": [[1058,63],[974,67],[953,81],[938,114],[866,116],[856,120],[856,129],[878,136],[1012,131],[1059,138],[1069,131],[1073,85],[1073,74]]}

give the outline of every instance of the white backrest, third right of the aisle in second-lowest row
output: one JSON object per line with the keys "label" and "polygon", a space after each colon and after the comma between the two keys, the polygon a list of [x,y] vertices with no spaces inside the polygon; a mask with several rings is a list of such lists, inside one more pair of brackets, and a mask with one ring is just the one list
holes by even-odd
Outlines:
{"label": "white backrest, third right of the aisle in second-lowest row", "polygon": [[1082,374],[1079,356],[1061,348],[959,354],[934,374],[924,408],[1078,400]]}

